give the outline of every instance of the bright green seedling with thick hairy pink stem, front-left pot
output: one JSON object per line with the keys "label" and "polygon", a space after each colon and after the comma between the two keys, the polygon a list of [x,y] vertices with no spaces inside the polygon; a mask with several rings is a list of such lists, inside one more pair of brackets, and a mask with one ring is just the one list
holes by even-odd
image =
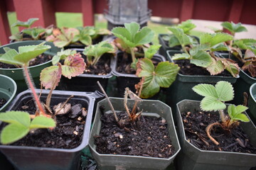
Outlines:
{"label": "bright green seedling with thick hairy pink stem, front-left pot", "polygon": [[28,69],[28,62],[34,57],[41,55],[41,53],[48,49],[50,49],[50,46],[44,45],[44,42],[39,45],[18,47],[18,52],[9,47],[4,48],[6,53],[1,55],[0,62],[4,62],[6,64],[16,64],[23,67],[23,75],[26,79],[26,83],[28,84],[28,88],[32,91],[33,99],[38,110],[36,111],[36,120],[32,121],[30,118],[33,118],[33,116],[29,115],[29,113],[19,111],[1,113],[0,120],[10,123],[1,132],[1,142],[3,144],[9,144],[21,139],[28,134],[29,130],[33,128],[55,127],[55,121],[50,118],[50,115],[46,114],[45,109],[39,101],[34,88],[33,79],[31,79],[31,74]]}

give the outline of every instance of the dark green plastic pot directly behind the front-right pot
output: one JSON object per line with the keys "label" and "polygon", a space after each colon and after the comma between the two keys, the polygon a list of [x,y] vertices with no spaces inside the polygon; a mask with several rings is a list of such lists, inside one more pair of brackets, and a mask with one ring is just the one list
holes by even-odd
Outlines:
{"label": "dark green plastic pot directly behind the front-right pot", "polygon": [[[181,53],[176,50],[167,51],[168,60],[171,60],[171,56],[176,53]],[[228,81],[231,84],[235,84],[238,78],[235,77],[220,77],[220,76],[201,76],[201,75],[183,75],[178,73],[176,80],[169,87],[166,94],[166,103],[171,106],[174,114],[176,113],[176,103],[183,99],[201,100],[203,97],[196,94],[192,87],[197,84],[213,84],[215,85],[218,81]]]}

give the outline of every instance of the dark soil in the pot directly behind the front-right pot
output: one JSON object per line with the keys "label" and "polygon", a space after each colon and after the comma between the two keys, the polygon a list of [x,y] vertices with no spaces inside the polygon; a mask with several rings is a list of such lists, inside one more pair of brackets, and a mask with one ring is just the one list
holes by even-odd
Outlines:
{"label": "dark soil in the pot directly behind the front-right pot", "polygon": [[[181,67],[181,69],[178,71],[180,74],[210,76],[210,72],[208,72],[205,68],[191,64],[189,60],[175,60],[174,63]],[[216,74],[214,76],[232,77],[230,72],[227,70],[224,70],[220,74]]]}

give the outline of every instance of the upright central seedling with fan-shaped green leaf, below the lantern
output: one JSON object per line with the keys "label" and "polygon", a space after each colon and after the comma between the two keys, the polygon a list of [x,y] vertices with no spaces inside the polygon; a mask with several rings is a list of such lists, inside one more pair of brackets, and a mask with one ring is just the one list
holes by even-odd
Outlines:
{"label": "upright central seedling with fan-shaped green leaf, below the lantern", "polygon": [[134,69],[137,63],[135,50],[138,46],[151,42],[154,38],[154,32],[147,27],[139,29],[138,23],[124,23],[124,28],[116,27],[112,29],[112,33],[122,40],[121,44],[129,50],[132,55],[132,67]]}

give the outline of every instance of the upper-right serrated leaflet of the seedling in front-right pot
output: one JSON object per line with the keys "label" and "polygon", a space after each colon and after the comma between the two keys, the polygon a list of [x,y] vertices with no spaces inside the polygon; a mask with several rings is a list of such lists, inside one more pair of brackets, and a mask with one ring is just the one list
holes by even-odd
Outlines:
{"label": "upper-right serrated leaflet of the seedling in front-right pot", "polygon": [[231,101],[234,98],[234,89],[232,84],[228,81],[218,81],[215,84],[215,89],[218,94],[218,99],[220,101]]}

